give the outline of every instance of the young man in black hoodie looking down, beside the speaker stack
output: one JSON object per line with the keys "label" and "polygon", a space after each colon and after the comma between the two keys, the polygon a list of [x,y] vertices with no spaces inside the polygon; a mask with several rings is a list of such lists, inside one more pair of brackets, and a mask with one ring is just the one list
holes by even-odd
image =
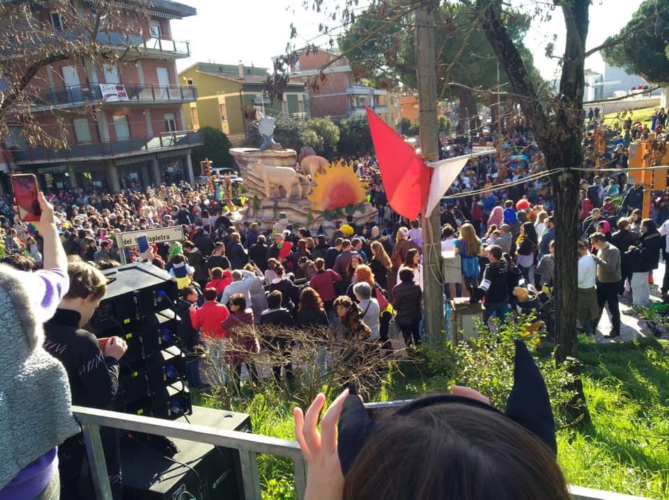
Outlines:
{"label": "young man in black hoodie looking down, beside the speaker stack", "polygon": [[[105,409],[118,389],[118,360],[128,346],[119,337],[95,338],[82,329],[107,291],[107,278],[93,265],[71,260],[68,265],[70,290],[61,300],[53,318],[44,324],[44,348],[61,361],[68,373],[72,404]],[[121,462],[116,429],[100,428],[107,462],[107,474],[114,500],[122,497]],[[80,484],[86,456],[82,434],[70,437],[59,446],[61,498],[79,500],[95,498],[93,485]]]}

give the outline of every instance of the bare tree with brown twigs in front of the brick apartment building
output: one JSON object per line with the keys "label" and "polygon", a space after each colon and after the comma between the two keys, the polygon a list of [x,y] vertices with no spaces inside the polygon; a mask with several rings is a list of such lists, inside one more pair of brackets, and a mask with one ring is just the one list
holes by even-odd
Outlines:
{"label": "bare tree with brown twigs in front of the brick apartment building", "polygon": [[[0,2],[0,143],[14,127],[29,146],[66,146],[62,112],[38,91],[45,70],[59,61],[119,65],[134,61],[148,37],[147,0]],[[41,84],[41,85],[40,85]],[[40,124],[52,111],[56,132]],[[89,111],[94,111],[89,106]]]}

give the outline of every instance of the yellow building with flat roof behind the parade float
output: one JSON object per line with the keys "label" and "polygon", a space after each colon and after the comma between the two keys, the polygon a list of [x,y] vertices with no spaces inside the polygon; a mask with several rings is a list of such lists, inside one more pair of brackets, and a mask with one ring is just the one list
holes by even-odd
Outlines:
{"label": "yellow building with flat roof behind the parade float", "polygon": [[[226,134],[233,145],[244,140],[249,120],[244,118],[242,107],[259,106],[263,102],[263,84],[268,77],[267,68],[217,63],[195,63],[179,73],[185,86],[196,86],[197,102],[184,104],[188,128],[214,127]],[[268,116],[289,114],[306,118],[305,86],[301,82],[289,83],[283,102],[270,102],[265,98]]]}

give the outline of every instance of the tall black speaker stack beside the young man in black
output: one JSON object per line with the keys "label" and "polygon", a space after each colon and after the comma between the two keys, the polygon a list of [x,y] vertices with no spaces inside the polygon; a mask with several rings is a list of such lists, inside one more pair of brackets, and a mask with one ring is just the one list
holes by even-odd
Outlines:
{"label": "tall black speaker stack beside the young man in black", "polygon": [[119,336],[128,343],[110,409],[162,419],[190,414],[176,283],[151,263],[114,267],[104,274],[107,294],[91,318],[92,330],[98,338]]}

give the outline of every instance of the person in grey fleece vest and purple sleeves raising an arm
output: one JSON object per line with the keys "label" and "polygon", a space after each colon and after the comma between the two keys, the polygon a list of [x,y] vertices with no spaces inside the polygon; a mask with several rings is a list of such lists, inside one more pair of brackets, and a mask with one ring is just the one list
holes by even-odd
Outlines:
{"label": "person in grey fleece vest and purple sleeves raising an arm", "polygon": [[0,264],[0,499],[58,498],[57,446],[79,432],[66,371],[42,345],[42,323],[55,313],[70,279],[54,208],[42,193],[37,198],[44,269]]}

